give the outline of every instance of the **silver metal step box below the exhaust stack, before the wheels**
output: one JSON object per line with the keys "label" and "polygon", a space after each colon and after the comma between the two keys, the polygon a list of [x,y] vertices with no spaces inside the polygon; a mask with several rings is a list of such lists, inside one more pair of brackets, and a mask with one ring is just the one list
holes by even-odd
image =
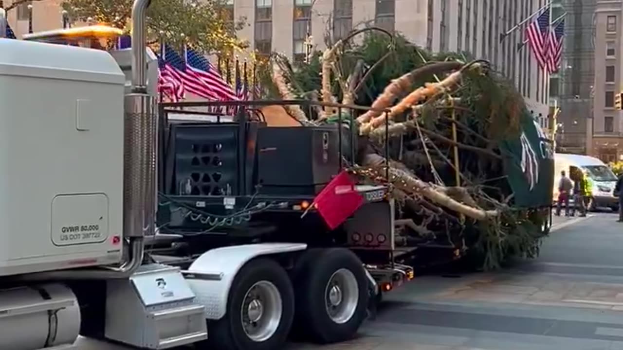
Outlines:
{"label": "silver metal step box below the exhaust stack, before the wheels", "polygon": [[129,280],[107,283],[106,338],[143,349],[207,339],[205,308],[179,268],[143,265]]}

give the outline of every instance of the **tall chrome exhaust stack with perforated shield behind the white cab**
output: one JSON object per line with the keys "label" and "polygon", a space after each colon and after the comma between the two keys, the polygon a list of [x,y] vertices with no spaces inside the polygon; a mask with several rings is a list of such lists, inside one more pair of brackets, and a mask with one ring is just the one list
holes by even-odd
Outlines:
{"label": "tall chrome exhaust stack with perforated shield behind the white cab", "polygon": [[155,98],[147,93],[145,17],[151,0],[132,6],[132,85],[125,95],[123,142],[123,237],[130,251],[119,267],[63,270],[25,275],[27,280],[102,280],[127,278],[143,263],[145,236],[155,234],[156,126]]}

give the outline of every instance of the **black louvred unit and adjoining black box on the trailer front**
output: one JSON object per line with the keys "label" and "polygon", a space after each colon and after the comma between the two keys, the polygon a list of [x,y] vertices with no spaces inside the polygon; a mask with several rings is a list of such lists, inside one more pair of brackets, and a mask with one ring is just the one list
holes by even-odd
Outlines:
{"label": "black louvred unit and adjoining black box on the trailer front", "polygon": [[350,130],[341,128],[341,136],[338,130],[336,124],[170,123],[164,142],[164,192],[313,196],[340,172],[340,159],[351,158]]}

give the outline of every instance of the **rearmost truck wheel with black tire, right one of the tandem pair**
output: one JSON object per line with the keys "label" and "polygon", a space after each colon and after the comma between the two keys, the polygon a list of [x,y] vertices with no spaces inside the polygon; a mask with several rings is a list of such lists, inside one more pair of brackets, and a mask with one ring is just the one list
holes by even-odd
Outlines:
{"label": "rearmost truck wheel with black tire, right one of the tandem pair", "polygon": [[368,279],[345,248],[312,249],[298,260],[296,330],[315,343],[353,338],[367,315]]}

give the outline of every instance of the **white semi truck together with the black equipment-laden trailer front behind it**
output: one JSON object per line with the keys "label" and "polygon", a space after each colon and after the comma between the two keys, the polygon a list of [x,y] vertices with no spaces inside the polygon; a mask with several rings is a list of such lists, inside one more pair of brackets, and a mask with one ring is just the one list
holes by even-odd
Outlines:
{"label": "white semi truck together with the black equipment-laden trailer front behind it", "polygon": [[310,206],[344,167],[343,130],[156,113],[149,2],[127,50],[92,49],[119,34],[102,26],[0,39],[0,349],[351,338],[414,274],[388,189],[356,186],[363,206],[330,230]]}

